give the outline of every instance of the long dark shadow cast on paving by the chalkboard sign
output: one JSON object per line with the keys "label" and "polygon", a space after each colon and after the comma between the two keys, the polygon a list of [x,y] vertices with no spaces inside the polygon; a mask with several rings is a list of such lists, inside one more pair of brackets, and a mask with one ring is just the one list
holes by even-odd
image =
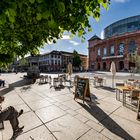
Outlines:
{"label": "long dark shadow cast on paving by the chalkboard sign", "polygon": [[[78,102],[79,103],[79,102]],[[112,118],[110,118],[101,108],[97,105],[88,103],[79,103],[86,111],[88,111],[95,119],[97,119],[106,129],[118,135],[119,137],[127,140],[134,140],[121,126],[119,126]]]}

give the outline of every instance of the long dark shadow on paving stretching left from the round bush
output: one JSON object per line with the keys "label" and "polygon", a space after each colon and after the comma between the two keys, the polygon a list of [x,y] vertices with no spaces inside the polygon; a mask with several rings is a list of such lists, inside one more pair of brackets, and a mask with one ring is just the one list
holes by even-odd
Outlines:
{"label": "long dark shadow on paving stretching left from the round bush", "polygon": [[26,90],[27,90],[27,89],[31,88],[31,86],[30,86],[31,84],[32,84],[31,81],[27,80],[27,79],[22,79],[22,80],[16,81],[14,83],[9,84],[8,88],[2,89],[0,91],[0,95],[2,96],[2,95],[7,94],[8,92],[14,90],[15,87],[23,87],[23,86],[27,86],[28,85],[28,87],[23,87],[24,89],[26,88]]}

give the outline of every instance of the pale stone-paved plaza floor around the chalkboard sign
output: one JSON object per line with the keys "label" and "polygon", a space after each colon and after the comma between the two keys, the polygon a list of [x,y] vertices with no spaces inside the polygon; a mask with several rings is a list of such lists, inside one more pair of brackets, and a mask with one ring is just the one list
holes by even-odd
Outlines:
{"label": "pale stone-paved plaza floor around the chalkboard sign", "polygon": [[[49,84],[27,84],[24,74],[1,75],[6,81],[6,86],[0,88],[0,94],[6,97],[3,108],[24,109],[19,121],[25,128],[16,140],[140,139],[140,121],[136,119],[136,112],[117,101],[111,88],[95,88],[90,82],[92,102],[83,104],[80,99],[74,100],[74,88],[55,90]],[[80,75],[93,76],[92,73]],[[106,79],[104,86],[111,87],[109,73],[98,75]],[[131,75],[119,73],[115,82],[123,82],[128,77]],[[139,75],[134,77],[137,79]],[[8,140],[12,136],[10,123],[4,122],[4,126],[5,129],[0,130],[0,140]]]}

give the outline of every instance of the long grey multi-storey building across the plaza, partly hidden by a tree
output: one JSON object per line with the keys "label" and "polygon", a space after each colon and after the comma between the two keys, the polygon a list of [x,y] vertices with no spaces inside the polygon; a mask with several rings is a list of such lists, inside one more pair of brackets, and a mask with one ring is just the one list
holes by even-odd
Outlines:
{"label": "long grey multi-storey building across the plaza, partly hidden by a tree", "polygon": [[[28,57],[29,66],[37,65],[41,72],[62,71],[67,69],[69,62],[72,62],[73,53],[64,51],[52,51],[34,57]],[[87,55],[79,54],[82,60],[82,70],[87,70]]]}

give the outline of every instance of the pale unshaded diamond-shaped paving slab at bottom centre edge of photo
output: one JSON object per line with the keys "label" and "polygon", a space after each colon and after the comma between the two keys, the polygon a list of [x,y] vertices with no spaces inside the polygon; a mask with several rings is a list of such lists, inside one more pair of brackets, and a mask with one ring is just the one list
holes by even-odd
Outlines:
{"label": "pale unshaded diamond-shaped paving slab at bottom centre edge of photo", "polygon": [[58,140],[76,140],[90,127],[70,115],[65,115],[46,124]]}

